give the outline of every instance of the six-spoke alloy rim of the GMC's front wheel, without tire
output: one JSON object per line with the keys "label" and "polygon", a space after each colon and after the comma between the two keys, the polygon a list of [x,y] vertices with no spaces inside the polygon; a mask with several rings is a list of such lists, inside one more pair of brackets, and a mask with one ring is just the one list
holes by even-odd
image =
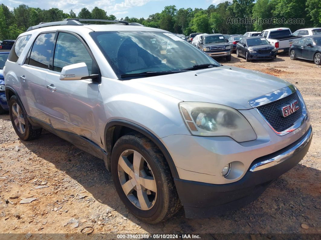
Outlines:
{"label": "six-spoke alloy rim of the GMC's front wheel, without tire", "polygon": [[118,159],[118,178],[127,198],[137,208],[149,210],[153,207],[157,196],[156,180],[142,154],[124,151]]}

